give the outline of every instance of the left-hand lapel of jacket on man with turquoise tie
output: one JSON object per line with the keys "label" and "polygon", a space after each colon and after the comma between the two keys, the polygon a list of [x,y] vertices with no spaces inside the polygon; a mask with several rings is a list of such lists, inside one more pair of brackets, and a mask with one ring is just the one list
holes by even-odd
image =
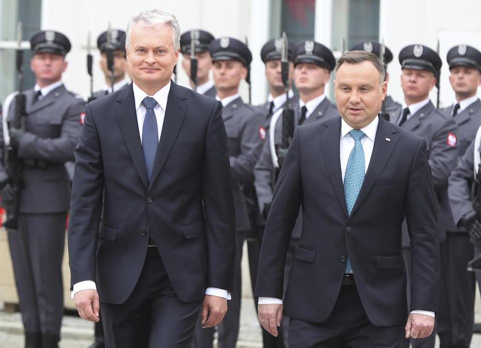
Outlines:
{"label": "left-hand lapel of jacket on man with turquoise tie", "polygon": [[341,155],[340,155],[341,117],[335,117],[321,128],[321,149],[331,184],[336,191],[344,215],[348,217],[344,185],[342,183]]}

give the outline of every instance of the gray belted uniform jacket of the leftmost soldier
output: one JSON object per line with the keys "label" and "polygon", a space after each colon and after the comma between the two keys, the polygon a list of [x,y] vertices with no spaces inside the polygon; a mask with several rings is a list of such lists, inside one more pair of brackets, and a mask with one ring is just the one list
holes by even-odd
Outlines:
{"label": "gray belted uniform jacket of the leftmost soldier", "polygon": [[[24,165],[20,212],[65,212],[70,206],[71,186],[64,163],[74,160],[74,149],[82,130],[81,117],[85,102],[81,97],[67,91],[64,85],[35,102],[36,93],[33,89],[25,91],[24,94],[26,133],[20,139],[18,155],[30,162],[33,160],[33,163],[42,161],[46,166]],[[9,124],[13,122],[15,100],[9,114],[4,116]],[[4,170],[2,164],[0,170]]]}

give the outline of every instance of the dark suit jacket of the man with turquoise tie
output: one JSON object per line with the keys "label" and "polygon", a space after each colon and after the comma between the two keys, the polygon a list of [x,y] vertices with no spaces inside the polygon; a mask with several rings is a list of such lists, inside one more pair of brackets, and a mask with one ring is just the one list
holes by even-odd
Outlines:
{"label": "dark suit jacket of the man with turquoise tie", "polygon": [[348,216],[340,133],[340,117],[296,128],[274,191],[255,296],[282,298],[286,251],[302,205],[302,234],[284,297],[286,316],[326,320],[349,255],[369,320],[380,326],[404,324],[404,217],[412,237],[411,307],[436,311],[439,255],[425,141],[380,119],[369,167]]}

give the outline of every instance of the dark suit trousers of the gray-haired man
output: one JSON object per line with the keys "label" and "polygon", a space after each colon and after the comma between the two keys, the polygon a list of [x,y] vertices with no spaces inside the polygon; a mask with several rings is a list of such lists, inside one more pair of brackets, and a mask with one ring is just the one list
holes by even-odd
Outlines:
{"label": "dark suit trousers of the gray-haired man", "polygon": [[122,304],[100,300],[107,348],[187,348],[201,304],[178,298],[159,251],[152,246],[127,300]]}

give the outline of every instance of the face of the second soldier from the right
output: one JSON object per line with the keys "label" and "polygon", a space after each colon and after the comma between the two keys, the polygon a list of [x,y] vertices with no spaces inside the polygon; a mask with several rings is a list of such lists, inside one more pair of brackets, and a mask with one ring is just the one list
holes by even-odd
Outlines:
{"label": "face of the second soldier from the right", "polygon": [[429,70],[403,69],[401,87],[406,103],[414,104],[426,99],[436,85],[436,78]]}

